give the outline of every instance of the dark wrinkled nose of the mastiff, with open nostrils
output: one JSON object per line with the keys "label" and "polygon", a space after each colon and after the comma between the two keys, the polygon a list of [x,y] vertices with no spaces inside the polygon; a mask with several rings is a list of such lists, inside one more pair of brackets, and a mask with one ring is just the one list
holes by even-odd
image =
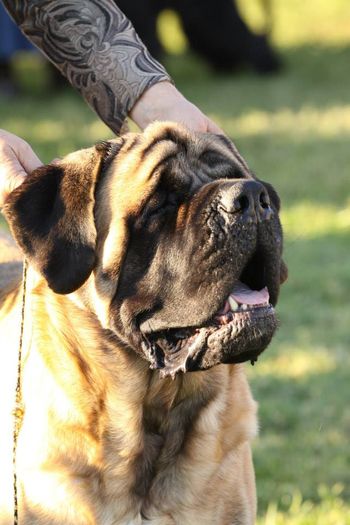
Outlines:
{"label": "dark wrinkled nose of the mastiff, with open nostrils", "polygon": [[269,194],[256,180],[242,180],[227,187],[222,192],[221,206],[227,213],[241,214],[247,223],[266,221],[272,215]]}

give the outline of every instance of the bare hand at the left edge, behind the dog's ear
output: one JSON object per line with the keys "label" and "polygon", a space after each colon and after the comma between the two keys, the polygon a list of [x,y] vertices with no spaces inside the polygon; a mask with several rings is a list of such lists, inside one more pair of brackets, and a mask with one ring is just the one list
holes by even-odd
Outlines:
{"label": "bare hand at the left edge, behind the dog's ear", "polygon": [[41,164],[27,142],[0,129],[0,208],[11,191]]}

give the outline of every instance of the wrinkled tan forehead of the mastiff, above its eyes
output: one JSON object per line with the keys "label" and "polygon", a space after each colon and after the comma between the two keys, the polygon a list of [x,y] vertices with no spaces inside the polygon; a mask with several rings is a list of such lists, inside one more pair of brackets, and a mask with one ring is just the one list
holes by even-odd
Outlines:
{"label": "wrinkled tan forehead of the mastiff, above its eyes", "polygon": [[174,123],[154,123],[142,134],[128,133],[97,148],[105,148],[104,186],[123,215],[137,214],[161,175],[172,187],[192,192],[215,179],[251,177],[228,138]]}

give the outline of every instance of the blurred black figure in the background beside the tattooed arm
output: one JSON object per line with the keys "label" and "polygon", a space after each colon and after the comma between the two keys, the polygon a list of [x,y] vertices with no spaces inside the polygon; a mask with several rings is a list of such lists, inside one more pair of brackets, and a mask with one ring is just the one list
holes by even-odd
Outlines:
{"label": "blurred black figure in the background beside the tattooed arm", "polygon": [[235,0],[116,0],[155,58],[162,46],[156,33],[160,11],[171,8],[181,18],[191,48],[213,68],[232,71],[248,66],[273,73],[280,61],[267,36],[253,33],[241,18]]}

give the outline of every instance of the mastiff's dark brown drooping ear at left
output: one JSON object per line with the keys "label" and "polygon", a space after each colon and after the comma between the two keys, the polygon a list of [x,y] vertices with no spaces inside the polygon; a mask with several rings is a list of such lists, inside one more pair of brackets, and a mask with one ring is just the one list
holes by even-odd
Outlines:
{"label": "mastiff's dark brown drooping ear at left", "polygon": [[103,152],[90,148],[42,166],[8,197],[12,233],[50,288],[77,290],[95,265],[94,193]]}

